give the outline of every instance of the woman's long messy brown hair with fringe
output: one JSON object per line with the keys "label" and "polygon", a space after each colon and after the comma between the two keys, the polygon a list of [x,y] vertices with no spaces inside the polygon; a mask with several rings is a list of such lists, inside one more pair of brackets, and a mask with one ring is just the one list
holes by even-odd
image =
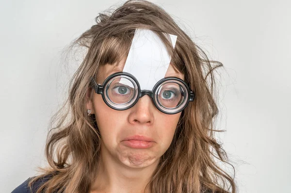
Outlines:
{"label": "woman's long messy brown hair with fringe", "polygon": [[[222,66],[183,32],[161,7],[144,0],[129,0],[115,11],[96,17],[96,25],[73,46],[86,48],[86,56],[74,74],[65,105],[54,115],[46,144],[49,166],[36,180],[50,175],[37,193],[89,192],[98,170],[100,133],[95,116],[86,113],[86,91],[98,66],[118,64],[127,56],[135,29],[156,32],[166,44],[171,63],[182,72],[195,93],[194,102],[181,113],[173,141],[164,153],[149,186],[153,193],[236,192],[234,177],[217,163],[228,163],[214,138],[218,108],[214,98],[213,71]],[[165,33],[178,36],[175,49]]]}

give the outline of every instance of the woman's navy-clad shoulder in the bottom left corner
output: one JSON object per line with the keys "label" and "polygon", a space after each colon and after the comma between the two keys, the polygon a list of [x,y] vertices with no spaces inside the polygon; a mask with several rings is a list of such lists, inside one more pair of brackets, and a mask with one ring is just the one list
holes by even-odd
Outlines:
{"label": "woman's navy-clad shoulder in the bottom left corner", "polygon": [[11,193],[34,193],[42,184],[44,184],[46,181],[48,181],[50,177],[51,177],[51,175],[47,175],[45,177],[42,177],[42,178],[36,180],[32,185],[32,192],[30,191],[30,188],[28,187],[28,183],[34,177],[29,177],[22,184],[17,186],[16,189],[14,189]]}

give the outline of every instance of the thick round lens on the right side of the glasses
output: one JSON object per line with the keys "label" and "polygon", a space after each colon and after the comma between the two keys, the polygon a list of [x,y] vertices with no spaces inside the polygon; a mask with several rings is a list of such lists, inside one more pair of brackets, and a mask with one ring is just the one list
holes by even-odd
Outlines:
{"label": "thick round lens on the right side of the glasses", "polygon": [[178,80],[167,80],[157,88],[155,100],[159,108],[169,113],[178,112],[187,103],[188,91]]}

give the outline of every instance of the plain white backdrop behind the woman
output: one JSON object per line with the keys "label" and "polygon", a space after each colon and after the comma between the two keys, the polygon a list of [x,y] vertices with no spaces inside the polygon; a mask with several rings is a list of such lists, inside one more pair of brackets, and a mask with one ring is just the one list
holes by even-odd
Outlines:
{"label": "plain white backdrop behind the woman", "polygon": [[[0,2],[0,192],[9,193],[45,164],[49,119],[66,94],[62,50],[122,1]],[[153,2],[225,66],[218,129],[239,192],[291,193],[291,1]]]}

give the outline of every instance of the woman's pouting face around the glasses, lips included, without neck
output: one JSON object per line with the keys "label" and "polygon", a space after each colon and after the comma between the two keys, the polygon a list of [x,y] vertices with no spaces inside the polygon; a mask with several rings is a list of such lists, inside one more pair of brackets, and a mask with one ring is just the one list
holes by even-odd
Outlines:
{"label": "woman's pouting face around the glasses, lips included, without neck", "polygon": [[[125,60],[115,68],[106,64],[97,72],[97,83],[114,72],[122,71]],[[112,71],[114,68],[114,71]],[[165,77],[174,76],[184,80],[170,64]],[[126,166],[142,168],[158,163],[170,146],[181,113],[160,112],[148,95],[141,97],[128,110],[117,111],[108,107],[102,96],[93,92],[88,109],[95,114],[101,134],[101,154],[107,155]]]}

